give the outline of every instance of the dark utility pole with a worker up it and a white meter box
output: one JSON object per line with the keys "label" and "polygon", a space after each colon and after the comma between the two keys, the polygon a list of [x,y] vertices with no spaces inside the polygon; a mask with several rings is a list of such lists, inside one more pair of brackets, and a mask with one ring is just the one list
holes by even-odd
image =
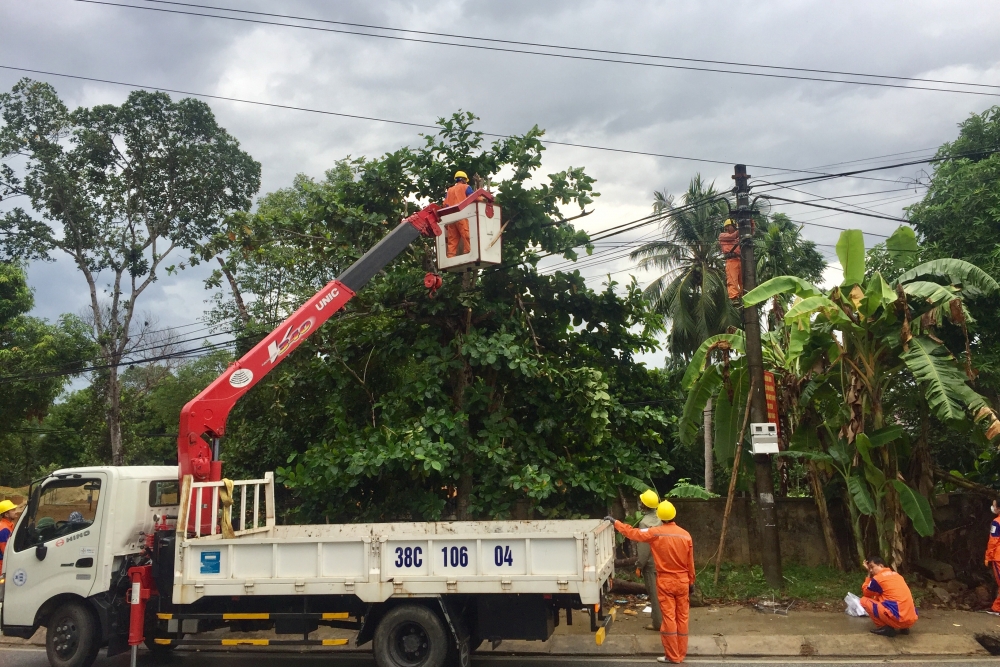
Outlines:
{"label": "dark utility pole with a worker up it and a white meter box", "polygon": [[[757,286],[757,263],[754,259],[748,178],[746,165],[736,165],[733,180],[736,181],[736,222],[740,231],[740,259],[743,266],[744,292],[749,292]],[[747,368],[750,371],[750,387],[753,392],[750,397],[750,421],[766,422],[764,357],[760,344],[760,317],[757,306],[744,306],[743,331],[746,336]],[[754,487],[761,524],[761,561],[764,567],[764,578],[772,588],[782,588],[784,579],[781,576],[778,512],[774,506],[774,477],[771,473],[771,457],[767,454],[758,454],[753,457],[753,463]]]}

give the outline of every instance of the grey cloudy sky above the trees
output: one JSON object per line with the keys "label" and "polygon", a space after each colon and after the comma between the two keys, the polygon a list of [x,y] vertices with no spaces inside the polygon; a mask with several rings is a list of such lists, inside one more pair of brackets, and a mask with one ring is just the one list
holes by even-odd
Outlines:
{"label": "grey cloudy sky above the trees", "polygon": [[[993,0],[202,2],[381,28],[1000,86],[1000,12]],[[433,123],[465,109],[481,117],[479,127],[487,132],[520,133],[538,124],[556,141],[721,162],[550,146],[544,173],[582,165],[597,178],[601,197],[594,214],[580,221],[588,231],[648,214],[654,190],[683,192],[696,172],[729,188],[735,162],[759,165],[750,173],[767,176],[789,169],[839,171],[926,157],[952,139],[956,124],[970,113],[1000,103],[1000,87],[865,79],[990,93],[970,95],[689,71],[649,63],[748,68],[592,51],[558,53],[647,65],[517,54],[329,30],[461,41],[453,37],[257,17],[326,29],[307,30],[148,8],[188,11],[149,0],[0,0],[0,65],[413,123]],[[254,18],[215,9],[191,11]],[[498,42],[465,43],[556,52]],[[0,89],[9,90],[24,75],[0,69]],[[53,83],[71,107],[119,103],[129,92],[108,83],[31,76]],[[263,191],[287,186],[296,173],[321,176],[347,155],[374,156],[420,140],[419,129],[403,125],[209,103],[221,124],[262,163]],[[881,156],[890,157],[871,159]],[[840,178],[781,195],[837,197],[843,203],[833,206],[846,208],[849,203],[898,216],[903,206],[919,198],[922,189],[905,188],[922,169]],[[822,244],[828,255],[838,234],[829,227],[861,228],[873,243],[882,238],[876,234],[891,233],[897,224],[804,206],[781,210],[804,223],[804,235]],[[649,238],[654,231],[644,229],[625,238]],[[628,271],[628,260],[619,257],[623,252],[609,251],[599,256],[602,261],[590,260],[581,270],[595,284],[608,272],[627,279],[634,272]],[[54,318],[86,306],[85,284],[71,263],[34,264],[29,274],[36,314]],[[643,282],[650,278],[636,275]],[[144,308],[154,311],[164,325],[196,322],[207,297],[203,278],[197,270],[164,278],[143,297]]]}

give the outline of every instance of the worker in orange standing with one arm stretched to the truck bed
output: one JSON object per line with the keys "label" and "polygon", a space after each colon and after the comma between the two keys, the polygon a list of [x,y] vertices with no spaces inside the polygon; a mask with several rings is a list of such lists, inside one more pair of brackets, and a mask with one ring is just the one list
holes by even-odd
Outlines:
{"label": "worker in orange standing with one arm stretched to the truck bed", "polygon": [[614,521],[615,530],[635,542],[648,542],[656,564],[656,597],[660,600],[660,641],[664,656],[658,662],[684,662],[687,655],[688,611],[694,590],[694,542],[691,534],[674,523],[677,510],[664,500],[656,508],[663,522],[653,528],[633,528]]}

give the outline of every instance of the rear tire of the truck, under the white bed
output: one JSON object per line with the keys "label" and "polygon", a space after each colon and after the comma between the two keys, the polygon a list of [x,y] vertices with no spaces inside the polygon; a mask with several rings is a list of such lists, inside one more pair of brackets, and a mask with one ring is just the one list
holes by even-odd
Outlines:
{"label": "rear tire of the truck, under the white bed", "polygon": [[375,629],[374,653],[378,667],[441,667],[450,637],[440,617],[417,604],[400,605],[387,613]]}

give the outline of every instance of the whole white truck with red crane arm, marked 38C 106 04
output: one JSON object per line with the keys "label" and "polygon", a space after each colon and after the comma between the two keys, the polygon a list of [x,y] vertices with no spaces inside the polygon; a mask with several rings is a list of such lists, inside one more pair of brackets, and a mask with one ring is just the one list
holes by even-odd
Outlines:
{"label": "whole white truck with red crane arm, marked 38C 106 04", "polygon": [[[482,235],[482,224],[492,246],[499,213],[480,190],[401,223],[184,407],[178,466],[68,469],[34,482],[0,573],[3,634],[44,626],[52,667],[89,667],[102,646],[132,647],[134,661],[140,643],[347,643],[311,638],[320,625],[356,630],[380,667],[465,666],[484,641],[548,639],[574,610],[602,642],[615,558],[603,520],[277,525],[271,473],[222,477],[219,440],[240,396],[421,232],[464,222]],[[491,252],[483,261],[499,261]],[[226,626],[297,638],[200,636]]]}

